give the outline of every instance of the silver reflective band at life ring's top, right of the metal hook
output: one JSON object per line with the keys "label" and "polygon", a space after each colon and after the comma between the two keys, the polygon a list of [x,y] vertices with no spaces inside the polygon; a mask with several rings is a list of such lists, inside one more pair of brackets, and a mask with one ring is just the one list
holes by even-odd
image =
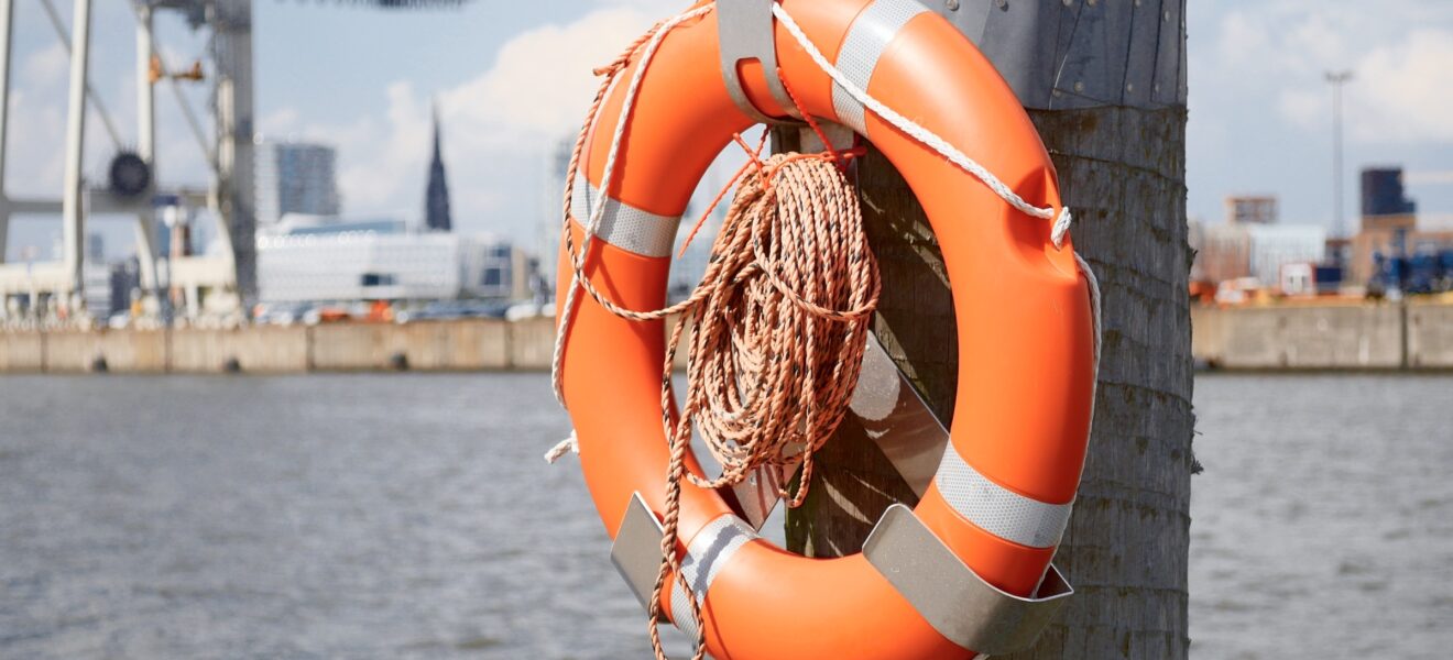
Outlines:
{"label": "silver reflective band at life ring's top, right of the metal hook", "polygon": [[[847,29],[847,38],[843,39],[843,48],[837,52],[834,64],[847,80],[867,91],[867,81],[873,77],[873,70],[878,68],[878,58],[883,55],[883,49],[894,41],[898,30],[908,25],[908,20],[927,10],[914,0],[873,1],[857,15],[853,26]],[[833,109],[837,110],[840,123],[867,135],[863,104],[837,83],[833,84]]]}

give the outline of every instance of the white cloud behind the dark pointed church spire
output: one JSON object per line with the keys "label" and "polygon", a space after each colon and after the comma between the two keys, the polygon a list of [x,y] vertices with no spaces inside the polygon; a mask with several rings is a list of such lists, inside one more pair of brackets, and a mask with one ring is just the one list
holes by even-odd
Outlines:
{"label": "white cloud behind the dark pointed church spire", "polygon": [[[654,15],[609,4],[568,25],[523,32],[500,46],[494,64],[436,99],[445,132],[456,223],[529,235],[522,225],[543,209],[536,199],[546,157],[580,128],[594,94],[594,67],[606,64]],[[309,123],[283,107],[259,123],[273,135],[325,141],[339,148],[339,186],[346,212],[402,213],[423,207],[430,149],[430,99],[407,81],[384,90],[382,112],[346,123]],[[485,222],[487,220],[487,222]]]}

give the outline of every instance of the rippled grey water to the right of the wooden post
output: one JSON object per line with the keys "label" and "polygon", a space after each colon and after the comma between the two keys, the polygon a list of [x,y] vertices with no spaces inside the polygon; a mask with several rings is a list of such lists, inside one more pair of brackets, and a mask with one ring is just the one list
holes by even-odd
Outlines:
{"label": "rippled grey water to the right of the wooden post", "polygon": [[1453,377],[1202,376],[1191,656],[1453,654]]}

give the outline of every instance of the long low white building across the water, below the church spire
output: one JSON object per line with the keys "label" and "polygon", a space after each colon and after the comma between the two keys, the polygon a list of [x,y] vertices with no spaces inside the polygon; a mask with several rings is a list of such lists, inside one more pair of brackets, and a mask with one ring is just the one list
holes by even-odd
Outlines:
{"label": "long low white building across the water, below the church spire", "polygon": [[285,216],[278,229],[257,238],[264,303],[529,297],[533,261],[493,236],[318,216]]}

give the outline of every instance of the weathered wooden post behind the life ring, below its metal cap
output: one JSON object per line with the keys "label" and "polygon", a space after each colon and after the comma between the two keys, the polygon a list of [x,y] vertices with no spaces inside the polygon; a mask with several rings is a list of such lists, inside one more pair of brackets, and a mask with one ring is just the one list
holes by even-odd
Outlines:
{"label": "weathered wooden post behind the life ring, below its metal cap", "polygon": [[[1032,651],[1013,657],[1187,654],[1194,415],[1180,99],[1030,110],[1075,212],[1075,248],[1100,279],[1104,352],[1090,455],[1055,558],[1078,593]],[[795,144],[786,131],[776,138],[786,149]],[[886,292],[875,329],[930,408],[950,419],[958,355],[943,257],[886,160],[865,158],[859,187]],[[806,503],[788,513],[789,547],[806,556],[854,553],[889,500],[914,503],[854,429],[818,454],[815,480]]]}

